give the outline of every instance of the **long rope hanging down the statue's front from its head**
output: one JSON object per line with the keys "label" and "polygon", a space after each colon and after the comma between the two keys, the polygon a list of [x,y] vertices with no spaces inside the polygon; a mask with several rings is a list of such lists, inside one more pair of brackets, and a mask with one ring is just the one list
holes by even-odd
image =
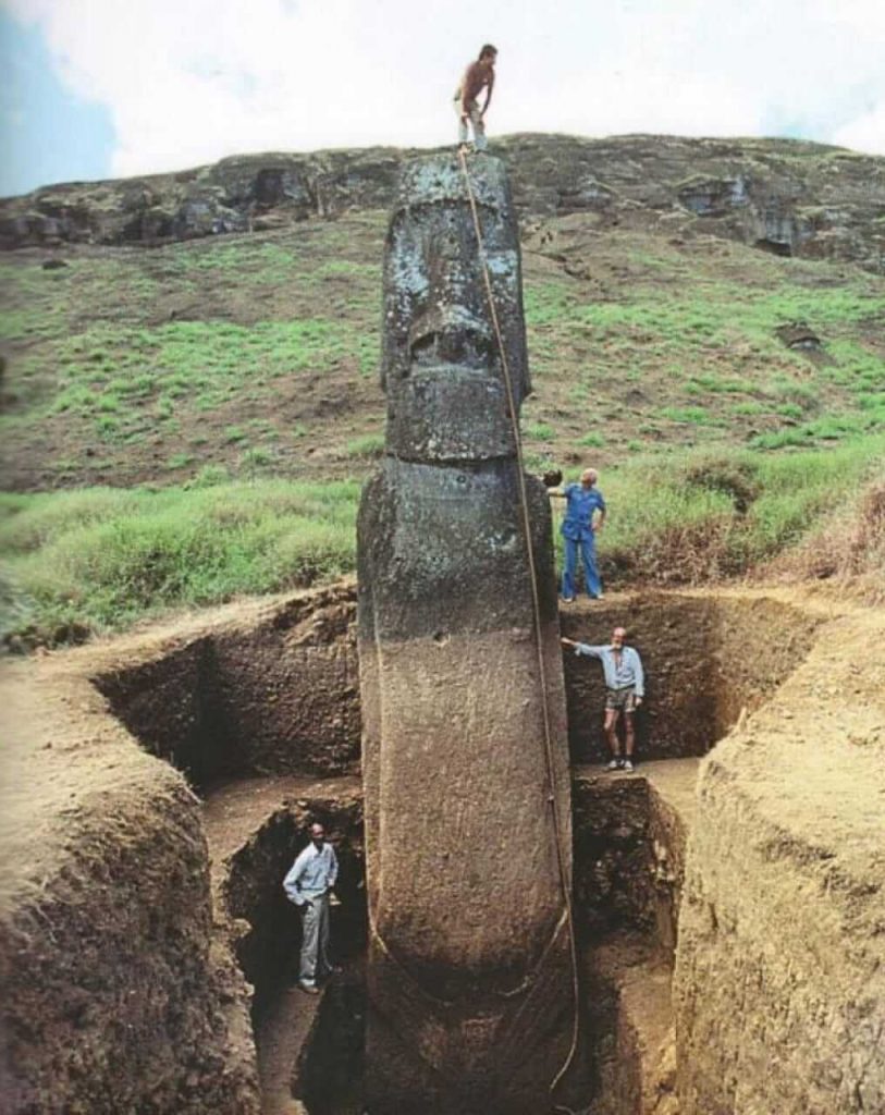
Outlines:
{"label": "long rope hanging down the statue's front from its head", "polygon": [[526,491],[525,483],[525,468],[523,465],[523,443],[519,436],[519,416],[516,409],[516,400],[513,392],[513,382],[510,379],[510,368],[507,363],[507,352],[504,347],[504,339],[500,334],[500,326],[498,323],[498,312],[495,307],[495,294],[492,290],[492,280],[488,273],[488,262],[486,260],[486,250],[483,243],[483,230],[479,223],[479,212],[476,207],[476,198],[474,197],[473,186],[470,184],[470,175],[467,171],[467,158],[465,156],[464,148],[461,147],[458,152],[458,158],[460,159],[461,171],[464,172],[464,181],[467,186],[467,197],[470,202],[470,212],[474,219],[474,230],[476,232],[476,242],[479,249],[479,260],[483,264],[483,279],[486,288],[486,298],[488,299],[488,310],[492,318],[492,326],[495,330],[495,337],[498,342],[498,352],[500,355],[500,362],[504,369],[504,385],[507,390],[507,409],[509,411],[510,426],[513,428],[514,443],[516,445],[516,463],[517,463],[517,475],[519,484],[519,508],[522,511],[523,520],[523,535],[525,539],[525,549],[528,556],[528,572],[529,580],[532,583],[532,605],[534,612],[535,621],[535,647],[537,650],[537,665],[538,665],[538,677],[541,680],[541,691],[544,696],[543,709],[544,709],[544,752],[547,766],[547,786],[550,787],[550,805],[551,814],[553,817],[554,832],[556,834],[556,864],[560,872],[560,886],[563,893],[563,902],[565,903],[565,912],[568,921],[568,947],[572,960],[572,995],[573,995],[573,1024],[572,1024],[572,1046],[568,1050],[568,1056],[563,1061],[558,1073],[553,1078],[550,1085],[551,1094],[556,1090],[560,1080],[567,1073],[575,1053],[577,1050],[577,1038],[578,1038],[578,980],[577,980],[577,950],[575,947],[575,925],[574,915],[572,911],[572,895],[571,889],[568,886],[568,878],[565,870],[565,855],[563,853],[562,846],[562,824],[560,818],[560,809],[556,804],[556,780],[555,780],[555,766],[553,762],[553,733],[551,729],[551,717],[550,717],[550,695],[547,690],[547,671],[544,665],[544,643],[543,643],[543,631],[541,627],[541,600],[538,597],[537,589],[537,568],[535,565],[535,554],[532,547],[532,523],[528,518],[528,494]]}

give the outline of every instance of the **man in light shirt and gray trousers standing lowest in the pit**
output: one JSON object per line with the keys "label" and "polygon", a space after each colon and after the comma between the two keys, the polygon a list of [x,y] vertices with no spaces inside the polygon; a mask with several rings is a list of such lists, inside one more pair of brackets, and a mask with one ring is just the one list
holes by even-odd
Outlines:
{"label": "man in light shirt and gray trousers standing lowest in the pit", "polygon": [[321,824],[310,826],[310,844],[283,880],[283,890],[301,919],[301,969],[298,986],[319,995],[317,980],[334,971],[329,958],[329,893],[338,879],[338,857]]}

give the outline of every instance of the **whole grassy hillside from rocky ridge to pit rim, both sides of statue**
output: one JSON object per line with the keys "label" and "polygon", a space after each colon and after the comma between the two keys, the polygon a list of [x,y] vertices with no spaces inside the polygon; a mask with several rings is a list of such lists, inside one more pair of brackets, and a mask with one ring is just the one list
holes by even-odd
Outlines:
{"label": "whole grassy hillside from rocky ridge to pit rim, both sides of statue", "polygon": [[[0,256],[9,632],[81,638],[352,569],[383,445],[386,220]],[[600,468],[612,586],[739,575],[862,513],[885,448],[882,275],[670,235],[660,214],[523,226],[525,450]]]}

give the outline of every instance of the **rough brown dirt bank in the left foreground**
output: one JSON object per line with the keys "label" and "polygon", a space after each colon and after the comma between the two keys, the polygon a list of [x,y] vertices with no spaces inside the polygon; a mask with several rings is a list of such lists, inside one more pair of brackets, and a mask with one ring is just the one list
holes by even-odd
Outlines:
{"label": "rough brown dirt bank in the left foreground", "polygon": [[257,1115],[200,803],[55,667],[0,682],[3,1111]]}

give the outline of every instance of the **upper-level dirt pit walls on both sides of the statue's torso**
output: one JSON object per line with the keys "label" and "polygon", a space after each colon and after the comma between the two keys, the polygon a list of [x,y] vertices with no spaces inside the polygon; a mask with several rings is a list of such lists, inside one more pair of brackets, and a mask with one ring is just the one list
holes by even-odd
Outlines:
{"label": "upper-level dirt pit walls on both sides of the statue's torso", "polygon": [[[106,656],[93,680],[114,715],[200,792],[256,774],[358,772],[356,585],[227,614]],[[648,676],[642,759],[706,754],[796,669],[819,622],[749,595],[638,593],[561,613],[563,634],[585,642],[628,628]],[[601,666],[567,653],[565,681],[572,760],[602,759]]]}

